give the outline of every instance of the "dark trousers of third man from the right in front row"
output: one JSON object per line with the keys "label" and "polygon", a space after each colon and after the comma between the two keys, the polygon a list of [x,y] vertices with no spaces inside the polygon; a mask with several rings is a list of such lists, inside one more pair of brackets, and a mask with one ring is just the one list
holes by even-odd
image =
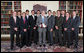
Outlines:
{"label": "dark trousers of third man from the right in front row", "polygon": [[62,42],[62,31],[61,30],[55,30],[55,43],[59,45],[63,45]]}

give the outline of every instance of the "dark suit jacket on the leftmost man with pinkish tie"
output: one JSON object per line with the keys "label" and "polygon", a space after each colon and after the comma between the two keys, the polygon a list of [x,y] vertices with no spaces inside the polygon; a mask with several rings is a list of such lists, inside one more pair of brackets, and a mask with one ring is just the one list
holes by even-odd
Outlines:
{"label": "dark suit jacket on the leftmost man with pinkish tie", "polygon": [[17,16],[16,16],[16,23],[15,23],[13,17],[10,17],[9,26],[10,26],[11,31],[14,31],[15,27],[19,28],[19,19],[17,18]]}

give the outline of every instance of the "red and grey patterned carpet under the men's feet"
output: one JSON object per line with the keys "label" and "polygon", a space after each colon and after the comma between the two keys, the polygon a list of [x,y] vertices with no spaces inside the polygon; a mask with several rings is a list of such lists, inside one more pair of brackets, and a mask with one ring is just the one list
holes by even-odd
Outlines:
{"label": "red and grey patterned carpet under the men's feet", "polygon": [[[70,48],[66,46],[49,46],[46,44],[46,47],[39,47],[38,45],[32,44],[31,47],[24,46],[19,48],[14,45],[14,50],[10,50],[10,41],[1,41],[1,52],[73,52],[74,48],[71,45]],[[79,40],[78,52],[83,52],[83,40]]]}

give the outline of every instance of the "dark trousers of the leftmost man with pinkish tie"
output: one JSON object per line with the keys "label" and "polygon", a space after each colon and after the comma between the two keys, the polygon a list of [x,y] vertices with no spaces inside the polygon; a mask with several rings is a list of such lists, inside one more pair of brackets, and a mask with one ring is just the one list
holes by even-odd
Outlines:
{"label": "dark trousers of the leftmost man with pinkish tie", "polygon": [[14,35],[16,34],[16,45],[19,44],[20,39],[19,39],[19,32],[18,31],[11,31],[10,32],[10,39],[11,39],[11,49],[14,47]]}

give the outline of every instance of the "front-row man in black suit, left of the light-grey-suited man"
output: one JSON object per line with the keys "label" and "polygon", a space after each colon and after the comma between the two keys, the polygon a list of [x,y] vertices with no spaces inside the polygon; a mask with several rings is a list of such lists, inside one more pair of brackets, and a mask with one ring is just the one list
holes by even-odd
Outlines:
{"label": "front-row man in black suit, left of the light-grey-suited man", "polygon": [[30,15],[30,44],[32,43],[32,39],[35,44],[37,44],[37,25],[36,20],[37,16],[34,15],[35,11],[32,10]]}

